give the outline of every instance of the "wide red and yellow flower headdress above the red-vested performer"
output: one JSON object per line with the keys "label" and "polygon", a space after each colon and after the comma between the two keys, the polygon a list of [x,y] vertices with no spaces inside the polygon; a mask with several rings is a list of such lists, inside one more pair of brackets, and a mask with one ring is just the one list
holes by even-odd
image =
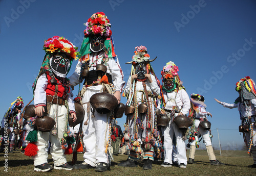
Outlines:
{"label": "wide red and yellow flower headdress above the red-vested performer", "polygon": [[49,53],[65,52],[68,53],[71,58],[76,60],[79,55],[77,49],[78,47],[64,37],[54,36],[45,40],[44,50]]}

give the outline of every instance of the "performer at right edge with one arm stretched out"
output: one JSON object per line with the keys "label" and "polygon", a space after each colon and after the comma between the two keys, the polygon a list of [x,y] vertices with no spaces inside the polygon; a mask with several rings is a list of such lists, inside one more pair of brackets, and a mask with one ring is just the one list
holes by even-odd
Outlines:
{"label": "performer at right edge with one arm stretched out", "polygon": [[240,119],[242,120],[239,132],[243,133],[244,141],[248,149],[248,154],[252,154],[253,164],[248,167],[256,168],[256,86],[250,77],[242,78],[236,84],[236,91],[239,97],[233,104],[216,102],[225,108],[238,108]]}

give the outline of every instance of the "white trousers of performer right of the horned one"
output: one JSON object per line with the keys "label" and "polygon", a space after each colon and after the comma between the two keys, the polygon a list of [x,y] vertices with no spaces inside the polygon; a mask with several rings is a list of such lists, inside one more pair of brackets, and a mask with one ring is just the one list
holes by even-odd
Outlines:
{"label": "white trousers of performer right of the horned one", "polygon": [[173,163],[172,153],[174,134],[176,136],[176,156],[178,158],[178,164],[180,165],[180,163],[184,163],[185,165],[187,165],[185,141],[182,139],[182,132],[179,130],[177,125],[172,122],[172,120],[170,120],[164,128],[164,163]]}

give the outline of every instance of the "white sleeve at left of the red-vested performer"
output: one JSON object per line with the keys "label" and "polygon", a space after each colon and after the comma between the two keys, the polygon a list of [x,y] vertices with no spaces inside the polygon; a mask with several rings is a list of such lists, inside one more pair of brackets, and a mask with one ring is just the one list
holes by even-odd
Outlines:
{"label": "white sleeve at left of the red-vested performer", "polygon": [[37,82],[34,91],[34,104],[37,106],[46,106],[46,88],[48,85],[48,80],[46,74],[42,74]]}

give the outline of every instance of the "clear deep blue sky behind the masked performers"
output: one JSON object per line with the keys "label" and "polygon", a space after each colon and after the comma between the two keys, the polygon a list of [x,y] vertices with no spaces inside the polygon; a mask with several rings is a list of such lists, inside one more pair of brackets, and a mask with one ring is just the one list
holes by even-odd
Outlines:
{"label": "clear deep blue sky behind the masked performers", "polygon": [[[236,83],[250,76],[256,81],[256,2],[251,0],[200,1],[0,1],[1,95],[0,112],[4,116],[17,96],[25,105],[33,98],[32,84],[45,52],[44,40],[55,35],[69,39],[80,48],[83,23],[96,12],[104,12],[112,24],[115,51],[129,78],[136,46],[147,47],[153,69],[161,80],[168,61],[179,67],[179,76],[187,93],[205,97],[212,114],[212,143],[243,145],[238,132],[237,109],[215,102],[233,103]],[[73,62],[70,76],[77,64]],[[78,86],[73,91],[78,93]],[[126,99],[122,97],[122,103]],[[123,125],[125,117],[118,119]],[[227,129],[227,130],[224,130]],[[201,142],[201,145],[203,143]]]}

